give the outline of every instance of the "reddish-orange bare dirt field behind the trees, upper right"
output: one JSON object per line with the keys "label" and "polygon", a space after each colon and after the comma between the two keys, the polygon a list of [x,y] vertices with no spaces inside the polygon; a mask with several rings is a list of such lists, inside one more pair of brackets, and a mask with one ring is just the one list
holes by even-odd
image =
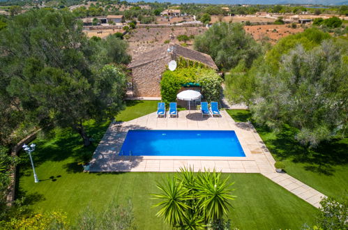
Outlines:
{"label": "reddish-orange bare dirt field behind the trees, upper right", "polygon": [[296,29],[289,28],[289,26],[291,25],[255,25],[244,26],[244,29],[247,33],[250,33],[255,40],[267,39],[268,37],[269,42],[275,44],[280,38],[303,31],[303,28],[299,24],[297,24]]}

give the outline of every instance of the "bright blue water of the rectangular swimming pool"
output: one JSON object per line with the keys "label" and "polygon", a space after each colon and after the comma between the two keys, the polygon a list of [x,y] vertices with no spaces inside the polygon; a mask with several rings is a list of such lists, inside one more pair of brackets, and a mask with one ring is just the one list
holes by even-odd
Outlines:
{"label": "bright blue water of the rectangular swimming pool", "polygon": [[129,130],[119,155],[245,157],[234,131]]}

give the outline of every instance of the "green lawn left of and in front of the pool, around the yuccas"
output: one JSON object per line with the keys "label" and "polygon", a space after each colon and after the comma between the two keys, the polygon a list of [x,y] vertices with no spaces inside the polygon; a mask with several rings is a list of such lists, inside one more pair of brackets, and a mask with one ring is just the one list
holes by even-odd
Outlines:
{"label": "green lawn left of and in front of the pool, around the yuccas", "polygon": [[[130,103],[130,102],[128,102]],[[137,102],[121,112],[118,120],[128,120],[152,112],[151,103]],[[129,105],[129,104],[128,104]],[[144,109],[142,107],[144,106]],[[152,110],[151,110],[152,109]],[[146,112],[145,112],[146,111]],[[137,112],[137,116],[134,115]],[[143,112],[139,114],[139,112]],[[86,123],[88,132],[94,139],[103,137],[108,122]],[[68,213],[70,222],[86,206],[103,210],[105,204],[116,202],[126,204],[131,199],[134,206],[138,229],[169,229],[151,208],[155,201],[149,194],[158,192],[156,181],[162,180],[165,173],[119,173],[87,174],[77,164],[83,153],[93,153],[97,144],[82,147],[78,135],[70,130],[56,130],[50,137],[38,137],[37,149],[33,153],[40,183],[33,182],[30,162],[20,167],[18,197],[27,197],[28,204],[38,212],[63,210]],[[239,229],[299,229],[305,223],[313,224],[317,209],[284,188],[276,185],[261,174],[225,174],[235,181],[229,213],[232,226]]]}

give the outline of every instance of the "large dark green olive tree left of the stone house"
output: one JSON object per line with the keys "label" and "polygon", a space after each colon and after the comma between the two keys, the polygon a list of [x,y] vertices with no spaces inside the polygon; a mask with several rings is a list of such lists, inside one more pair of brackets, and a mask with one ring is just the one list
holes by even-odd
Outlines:
{"label": "large dark green olive tree left of the stone house", "polygon": [[29,10],[0,34],[0,89],[20,114],[41,127],[76,130],[90,144],[84,121],[110,118],[123,105],[126,76],[108,63],[127,63],[122,40],[88,40],[66,10]]}

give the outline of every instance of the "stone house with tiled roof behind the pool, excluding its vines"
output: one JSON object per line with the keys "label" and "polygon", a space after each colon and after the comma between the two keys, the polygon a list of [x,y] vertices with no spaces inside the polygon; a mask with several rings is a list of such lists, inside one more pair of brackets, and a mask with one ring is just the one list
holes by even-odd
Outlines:
{"label": "stone house with tiled roof behind the pool, excluding its vines", "polygon": [[169,61],[183,59],[197,61],[205,66],[218,70],[213,59],[203,54],[176,44],[159,47],[150,52],[140,54],[128,65],[132,70],[134,97],[160,97],[160,80],[167,70]]}

